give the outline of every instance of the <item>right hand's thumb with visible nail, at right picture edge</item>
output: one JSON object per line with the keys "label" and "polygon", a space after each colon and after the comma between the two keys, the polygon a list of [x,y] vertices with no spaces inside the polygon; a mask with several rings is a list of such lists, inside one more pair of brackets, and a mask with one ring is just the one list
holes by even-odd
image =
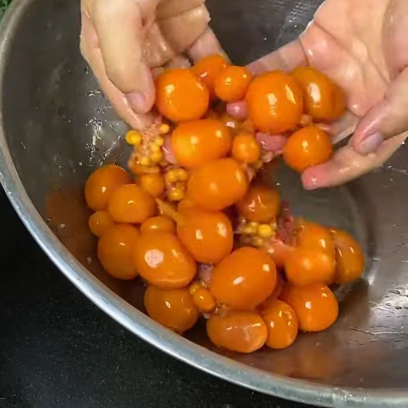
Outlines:
{"label": "right hand's thumb with visible nail, at right picture edge", "polygon": [[360,155],[377,151],[380,144],[408,130],[408,68],[391,84],[385,97],[360,121],[351,143]]}

